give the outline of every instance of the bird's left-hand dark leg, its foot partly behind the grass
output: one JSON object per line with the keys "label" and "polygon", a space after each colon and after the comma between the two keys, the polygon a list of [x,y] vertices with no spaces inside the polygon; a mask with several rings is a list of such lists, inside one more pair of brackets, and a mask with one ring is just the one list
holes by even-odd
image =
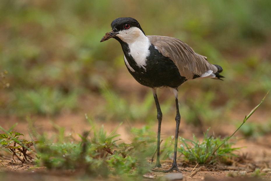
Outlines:
{"label": "bird's left-hand dark leg, its foot partly behind the grass", "polygon": [[158,102],[158,98],[156,95],[156,89],[152,88],[152,94],[155,100],[155,105],[157,109],[157,119],[158,119],[158,133],[157,133],[157,158],[156,158],[156,164],[154,167],[161,167],[160,163],[160,134],[161,134],[161,123],[162,123],[162,111]]}

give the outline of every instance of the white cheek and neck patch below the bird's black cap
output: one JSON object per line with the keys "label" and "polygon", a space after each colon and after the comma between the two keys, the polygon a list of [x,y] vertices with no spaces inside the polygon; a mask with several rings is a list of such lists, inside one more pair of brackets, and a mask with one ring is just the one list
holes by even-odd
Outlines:
{"label": "white cheek and neck patch below the bird's black cap", "polygon": [[[143,67],[146,70],[146,61],[147,56],[150,54],[149,46],[151,45],[147,36],[137,27],[122,30],[116,36],[128,44],[130,49],[129,55],[133,57],[138,67]],[[125,63],[128,67],[131,67],[127,61]]]}

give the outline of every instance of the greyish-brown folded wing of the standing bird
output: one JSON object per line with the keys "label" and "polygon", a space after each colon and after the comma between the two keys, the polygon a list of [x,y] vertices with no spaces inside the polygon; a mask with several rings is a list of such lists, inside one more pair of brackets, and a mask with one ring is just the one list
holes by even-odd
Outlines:
{"label": "greyish-brown folded wing of the standing bird", "polygon": [[195,53],[183,41],[168,36],[147,37],[162,55],[169,57],[175,63],[180,75],[186,79],[193,79],[195,74],[201,76],[209,70],[212,70],[213,74],[217,72],[217,67],[210,64],[207,57]]}

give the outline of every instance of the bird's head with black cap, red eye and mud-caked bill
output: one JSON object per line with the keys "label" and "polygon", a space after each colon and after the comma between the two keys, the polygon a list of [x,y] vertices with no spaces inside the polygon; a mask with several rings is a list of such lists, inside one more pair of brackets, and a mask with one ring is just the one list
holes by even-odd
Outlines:
{"label": "bird's head with black cap, red eye and mud-caked bill", "polygon": [[145,36],[144,31],[134,18],[117,18],[111,23],[112,30],[103,36],[100,42],[110,38],[122,40],[126,43],[133,42],[140,36]]}

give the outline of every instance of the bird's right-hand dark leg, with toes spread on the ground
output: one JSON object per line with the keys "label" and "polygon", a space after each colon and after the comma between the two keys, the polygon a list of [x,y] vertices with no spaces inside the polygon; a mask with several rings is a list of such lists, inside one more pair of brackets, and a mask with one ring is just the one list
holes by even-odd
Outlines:
{"label": "bird's right-hand dark leg, with toes spread on the ground", "polygon": [[175,131],[175,144],[174,144],[174,157],[173,157],[173,163],[172,163],[172,167],[168,170],[164,170],[164,172],[169,172],[172,170],[176,170],[177,172],[179,172],[178,166],[177,166],[177,145],[178,145],[178,136],[179,136],[179,127],[180,127],[180,120],[181,120],[181,116],[180,116],[180,111],[179,111],[179,102],[178,102],[178,90],[177,89],[173,89],[174,95],[175,95],[175,101],[176,101],[176,117],[175,117],[175,121],[176,121],[176,131]]}

